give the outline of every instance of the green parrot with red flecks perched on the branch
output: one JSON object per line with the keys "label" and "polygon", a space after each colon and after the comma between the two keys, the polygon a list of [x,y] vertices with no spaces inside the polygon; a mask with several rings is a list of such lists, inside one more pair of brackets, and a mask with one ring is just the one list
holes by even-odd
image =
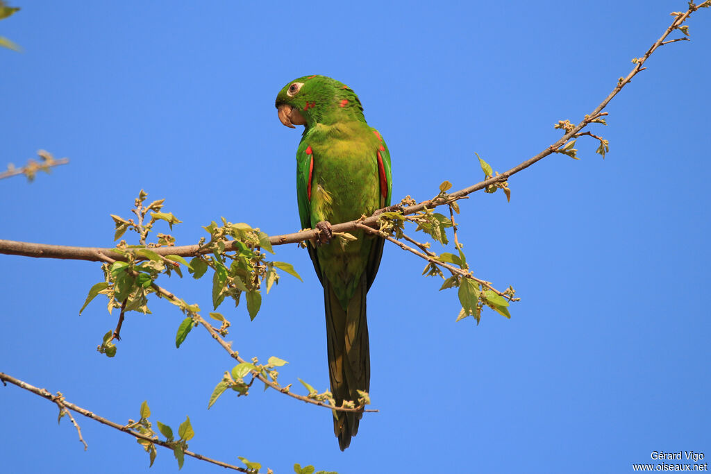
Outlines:
{"label": "green parrot with red flecks perched on the branch", "polygon": [[[277,95],[282,124],[304,125],[296,151],[296,196],[302,228],[319,228],[371,215],[390,205],[390,153],[368,126],[355,92],[331,77],[311,75],[289,82]],[[370,389],[370,350],[365,294],[378,273],[383,239],[353,232],[355,241],[308,244],[324,286],[328,375],[340,406],[358,404]],[[358,433],[360,413],[336,411],[333,431],[341,451]]]}

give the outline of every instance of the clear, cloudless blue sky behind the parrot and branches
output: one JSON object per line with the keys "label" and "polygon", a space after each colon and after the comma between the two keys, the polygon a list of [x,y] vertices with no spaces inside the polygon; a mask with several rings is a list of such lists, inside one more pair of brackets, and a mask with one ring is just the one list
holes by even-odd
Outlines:
{"label": "clear, cloudless blue sky behind the parrot and branches", "polygon": [[[141,188],[183,221],[178,244],[220,216],[298,230],[299,133],[279,123],[274,97],[302,75],[358,93],[389,146],[394,200],[480,181],[475,152],[506,171],[555,141],[558,120],[592,111],[686,6],[14,4],[23,9],[0,36],[24,53],[0,50],[0,162],[38,149],[71,162],[31,184],[0,182],[0,238],[98,247],[112,246],[109,214],[128,217]],[[294,463],[341,474],[628,472],[652,451],[711,456],[711,11],[688,24],[692,41],[655,53],[609,105],[609,126],[591,129],[610,141],[604,160],[581,139],[580,161],[550,156],[511,178],[510,203],[500,193],[461,203],[475,274],[522,298],[510,321],[486,311],[479,326],[454,323],[456,292],[438,292],[424,262],[386,247],[368,296],[380,413],[345,453],[328,411],[273,391],[225,394],[208,411],[233,364],[198,329],[176,350],[183,315],[165,301],[127,317],[117,357],[96,352],[116,321],[99,299],[77,315],[102,278],[95,263],[0,256],[0,371],[122,423],[147,399],[151,419],[176,428],[191,417],[193,451],[276,473]],[[295,245],[277,259],[304,283],[284,276],[253,322],[225,303],[233,347],[288,360],[284,383],[326,389],[318,280]],[[210,308],[209,281],[162,284]],[[7,472],[177,468],[161,450],[149,471],[132,438],[79,417],[84,452],[53,404],[12,386],[0,400]],[[183,472],[219,469],[188,459]]]}

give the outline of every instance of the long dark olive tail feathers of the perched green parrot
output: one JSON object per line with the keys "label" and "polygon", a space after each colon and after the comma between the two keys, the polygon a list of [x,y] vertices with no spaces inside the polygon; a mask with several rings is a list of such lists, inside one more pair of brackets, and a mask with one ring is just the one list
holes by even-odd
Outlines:
{"label": "long dark olive tail feathers of the perched green parrot", "polygon": [[[358,390],[364,392],[370,390],[370,345],[368,321],[365,318],[366,293],[368,293],[368,280],[364,273],[351,301],[348,301],[348,308],[344,309],[328,280],[324,279],[328,375],[336,406],[341,406],[344,400],[353,400],[357,403]],[[333,431],[338,436],[338,446],[341,451],[351,444],[351,436],[358,433],[358,423],[362,416],[362,413],[334,412]]]}

